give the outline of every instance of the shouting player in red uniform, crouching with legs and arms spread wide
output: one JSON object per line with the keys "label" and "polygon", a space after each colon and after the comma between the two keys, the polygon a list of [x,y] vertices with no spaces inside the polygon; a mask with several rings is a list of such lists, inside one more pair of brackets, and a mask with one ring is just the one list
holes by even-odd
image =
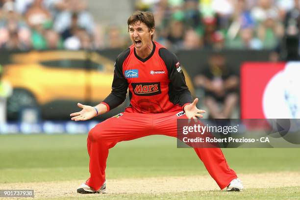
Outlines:
{"label": "shouting player in red uniform, crouching with legs and arms spread wide", "polygon": [[[72,120],[85,121],[108,112],[125,100],[129,89],[130,106],[125,112],[96,125],[88,134],[91,175],[78,193],[105,193],[108,150],[118,142],[154,134],[176,137],[177,119],[196,119],[205,112],[196,107],[198,99],[193,101],[175,54],[152,41],[153,15],[137,11],[127,24],[133,44],[116,59],[111,93],[95,107],[78,103],[82,110],[70,115]],[[243,189],[219,148],[194,149],[221,189]]]}

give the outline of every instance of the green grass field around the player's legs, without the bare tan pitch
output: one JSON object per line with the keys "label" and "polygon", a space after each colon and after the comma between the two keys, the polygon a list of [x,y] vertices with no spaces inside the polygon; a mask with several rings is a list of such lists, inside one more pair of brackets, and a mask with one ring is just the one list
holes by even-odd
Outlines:
{"label": "green grass field around the player's legs, without the bare tan pitch", "polygon": [[[81,180],[89,176],[87,135],[0,135],[0,185]],[[300,172],[300,149],[223,149],[238,174]],[[150,136],[122,142],[110,150],[107,179],[207,175],[193,149],[176,140]],[[5,189],[5,188],[0,188]],[[74,188],[75,191],[76,188]],[[161,194],[107,194],[101,199],[300,199],[300,187],[245,189],[242,193],[194,191]],[[74,199],[64,197],[59,199]],[[81,197],[91,199],[94,196]],[[53,198],[48,198],[53,199]],[[55,198],[54,198],[55,199]],[[58,197],[57,197],[58,199]]]}

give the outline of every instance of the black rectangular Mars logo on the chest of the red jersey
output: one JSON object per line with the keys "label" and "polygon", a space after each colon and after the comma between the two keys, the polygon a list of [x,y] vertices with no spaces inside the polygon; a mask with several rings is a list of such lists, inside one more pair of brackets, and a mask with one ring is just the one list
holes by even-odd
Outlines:
{"label": "black rectangular Mars logo on the chest of the red jersey", "polygon": [[161,94],[160,82],[154,83],[131,83],[135,95],[152,96]]}

